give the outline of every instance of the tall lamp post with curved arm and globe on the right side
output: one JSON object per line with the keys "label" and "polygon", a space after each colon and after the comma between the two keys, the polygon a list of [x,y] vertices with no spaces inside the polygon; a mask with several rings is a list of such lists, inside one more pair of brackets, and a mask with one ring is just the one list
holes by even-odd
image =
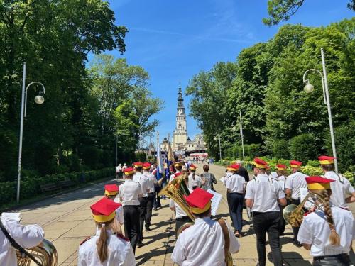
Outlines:
{"label": "tall lamp post with curved arm and globe on the right side", "polygon": [[324,104],[327,104],[328,108],[328,118],[329,118],[329,129],[330,129],[330,138],[332,139],[332,150],[333,150],[333,157],[334,159],[334,167],[335,167],[335,172],[338,173],[338,162],[337,162],[337,150],[335,149],[335,140],[334,140],[334,130],[333,130],[333,122],[332,122],[332,110],[330,108],[330,101],[329,101],[329,89],[328,89],[328,81],[327,81],[327,70],[325,69],[325,60],[324,60],[324,50],[323,48],[320,50],[320,53],[322,55],[322,67],[323,67],[323,74],[320,72],[320,70],[315,70],[315,69],[310,69],[306,70],[306,72],[303,74],[303,82],[307,84],[303,88],[305,92],[311,93],[315,89],[312,84],[310,84],[310,81],[306,78],[306,75],[308,72],[313,71],[313,72],[318,72],[320,74],[320,77],[322,77],[322,88],[323,88],[323,98],[324,98]]}

